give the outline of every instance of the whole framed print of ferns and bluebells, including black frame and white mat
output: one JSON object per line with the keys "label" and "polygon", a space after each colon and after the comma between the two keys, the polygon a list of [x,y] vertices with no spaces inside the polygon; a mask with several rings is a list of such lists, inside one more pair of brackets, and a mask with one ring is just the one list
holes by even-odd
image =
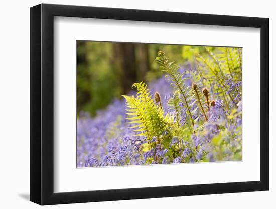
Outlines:
{"label": "whole framed print of ferns and bluebells, including black frame and white mat", "polygon": [[31,8],[31,201],[269,188],[268,19]]}

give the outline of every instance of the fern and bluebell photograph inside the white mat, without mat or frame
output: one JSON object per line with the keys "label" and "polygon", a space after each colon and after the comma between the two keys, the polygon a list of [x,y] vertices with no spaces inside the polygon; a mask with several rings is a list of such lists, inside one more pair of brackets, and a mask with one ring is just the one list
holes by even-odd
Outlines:
{"label": "fern and bluebell photograph inside the white mat, without mat or frame", "polygon": [[242,47],[76,41],[76,167],[242,160]]}

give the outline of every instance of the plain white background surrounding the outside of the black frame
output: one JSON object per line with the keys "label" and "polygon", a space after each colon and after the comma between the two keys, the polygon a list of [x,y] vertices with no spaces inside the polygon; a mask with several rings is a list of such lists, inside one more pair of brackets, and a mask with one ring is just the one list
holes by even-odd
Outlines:
{"label": "plain white background surrounding the outside of the black frame", "polygon": [[[30,190],[30,7],[40,1],[2,1],[0,9],[0,205],[1,208],[37,208]],[[127,1],[62,0],[43,3],[164,10],[270,19],[270,191],[189,197],[55,205],[47,208],[274,208],[276,203],[276,84],[272,71],[276,13],[273,1]],[[202,176],[204,177],[204,176]],[[274,197],[274,198],[273,198]]]}

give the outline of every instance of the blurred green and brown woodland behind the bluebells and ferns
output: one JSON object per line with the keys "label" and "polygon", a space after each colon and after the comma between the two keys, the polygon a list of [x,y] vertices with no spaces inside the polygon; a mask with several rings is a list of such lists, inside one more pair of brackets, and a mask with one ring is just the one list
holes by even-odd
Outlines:
{"label": "blurred green and brown woodland behind the bluebells and ferns", "polygon": [[201,46],[77,41],[78,114],[85,111],[95,116],[114,98],[128,94],[133,83],[160,78],[162,72],[154,62],[158,51],[166,52],[176,63],[193,63],[191,48],[205,53]]}

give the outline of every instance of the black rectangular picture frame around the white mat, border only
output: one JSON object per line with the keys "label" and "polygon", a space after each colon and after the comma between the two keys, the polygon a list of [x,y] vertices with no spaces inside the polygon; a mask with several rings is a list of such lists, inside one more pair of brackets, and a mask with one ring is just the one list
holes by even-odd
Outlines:
{"label": "black rectangular picture frame around the white mat, border only", "polygon": [[[54,16],[260,28],[260,181],[54,193]],[[62,204],[269,189],[269,19],[40,4],[31,8],[31,201]]]}

